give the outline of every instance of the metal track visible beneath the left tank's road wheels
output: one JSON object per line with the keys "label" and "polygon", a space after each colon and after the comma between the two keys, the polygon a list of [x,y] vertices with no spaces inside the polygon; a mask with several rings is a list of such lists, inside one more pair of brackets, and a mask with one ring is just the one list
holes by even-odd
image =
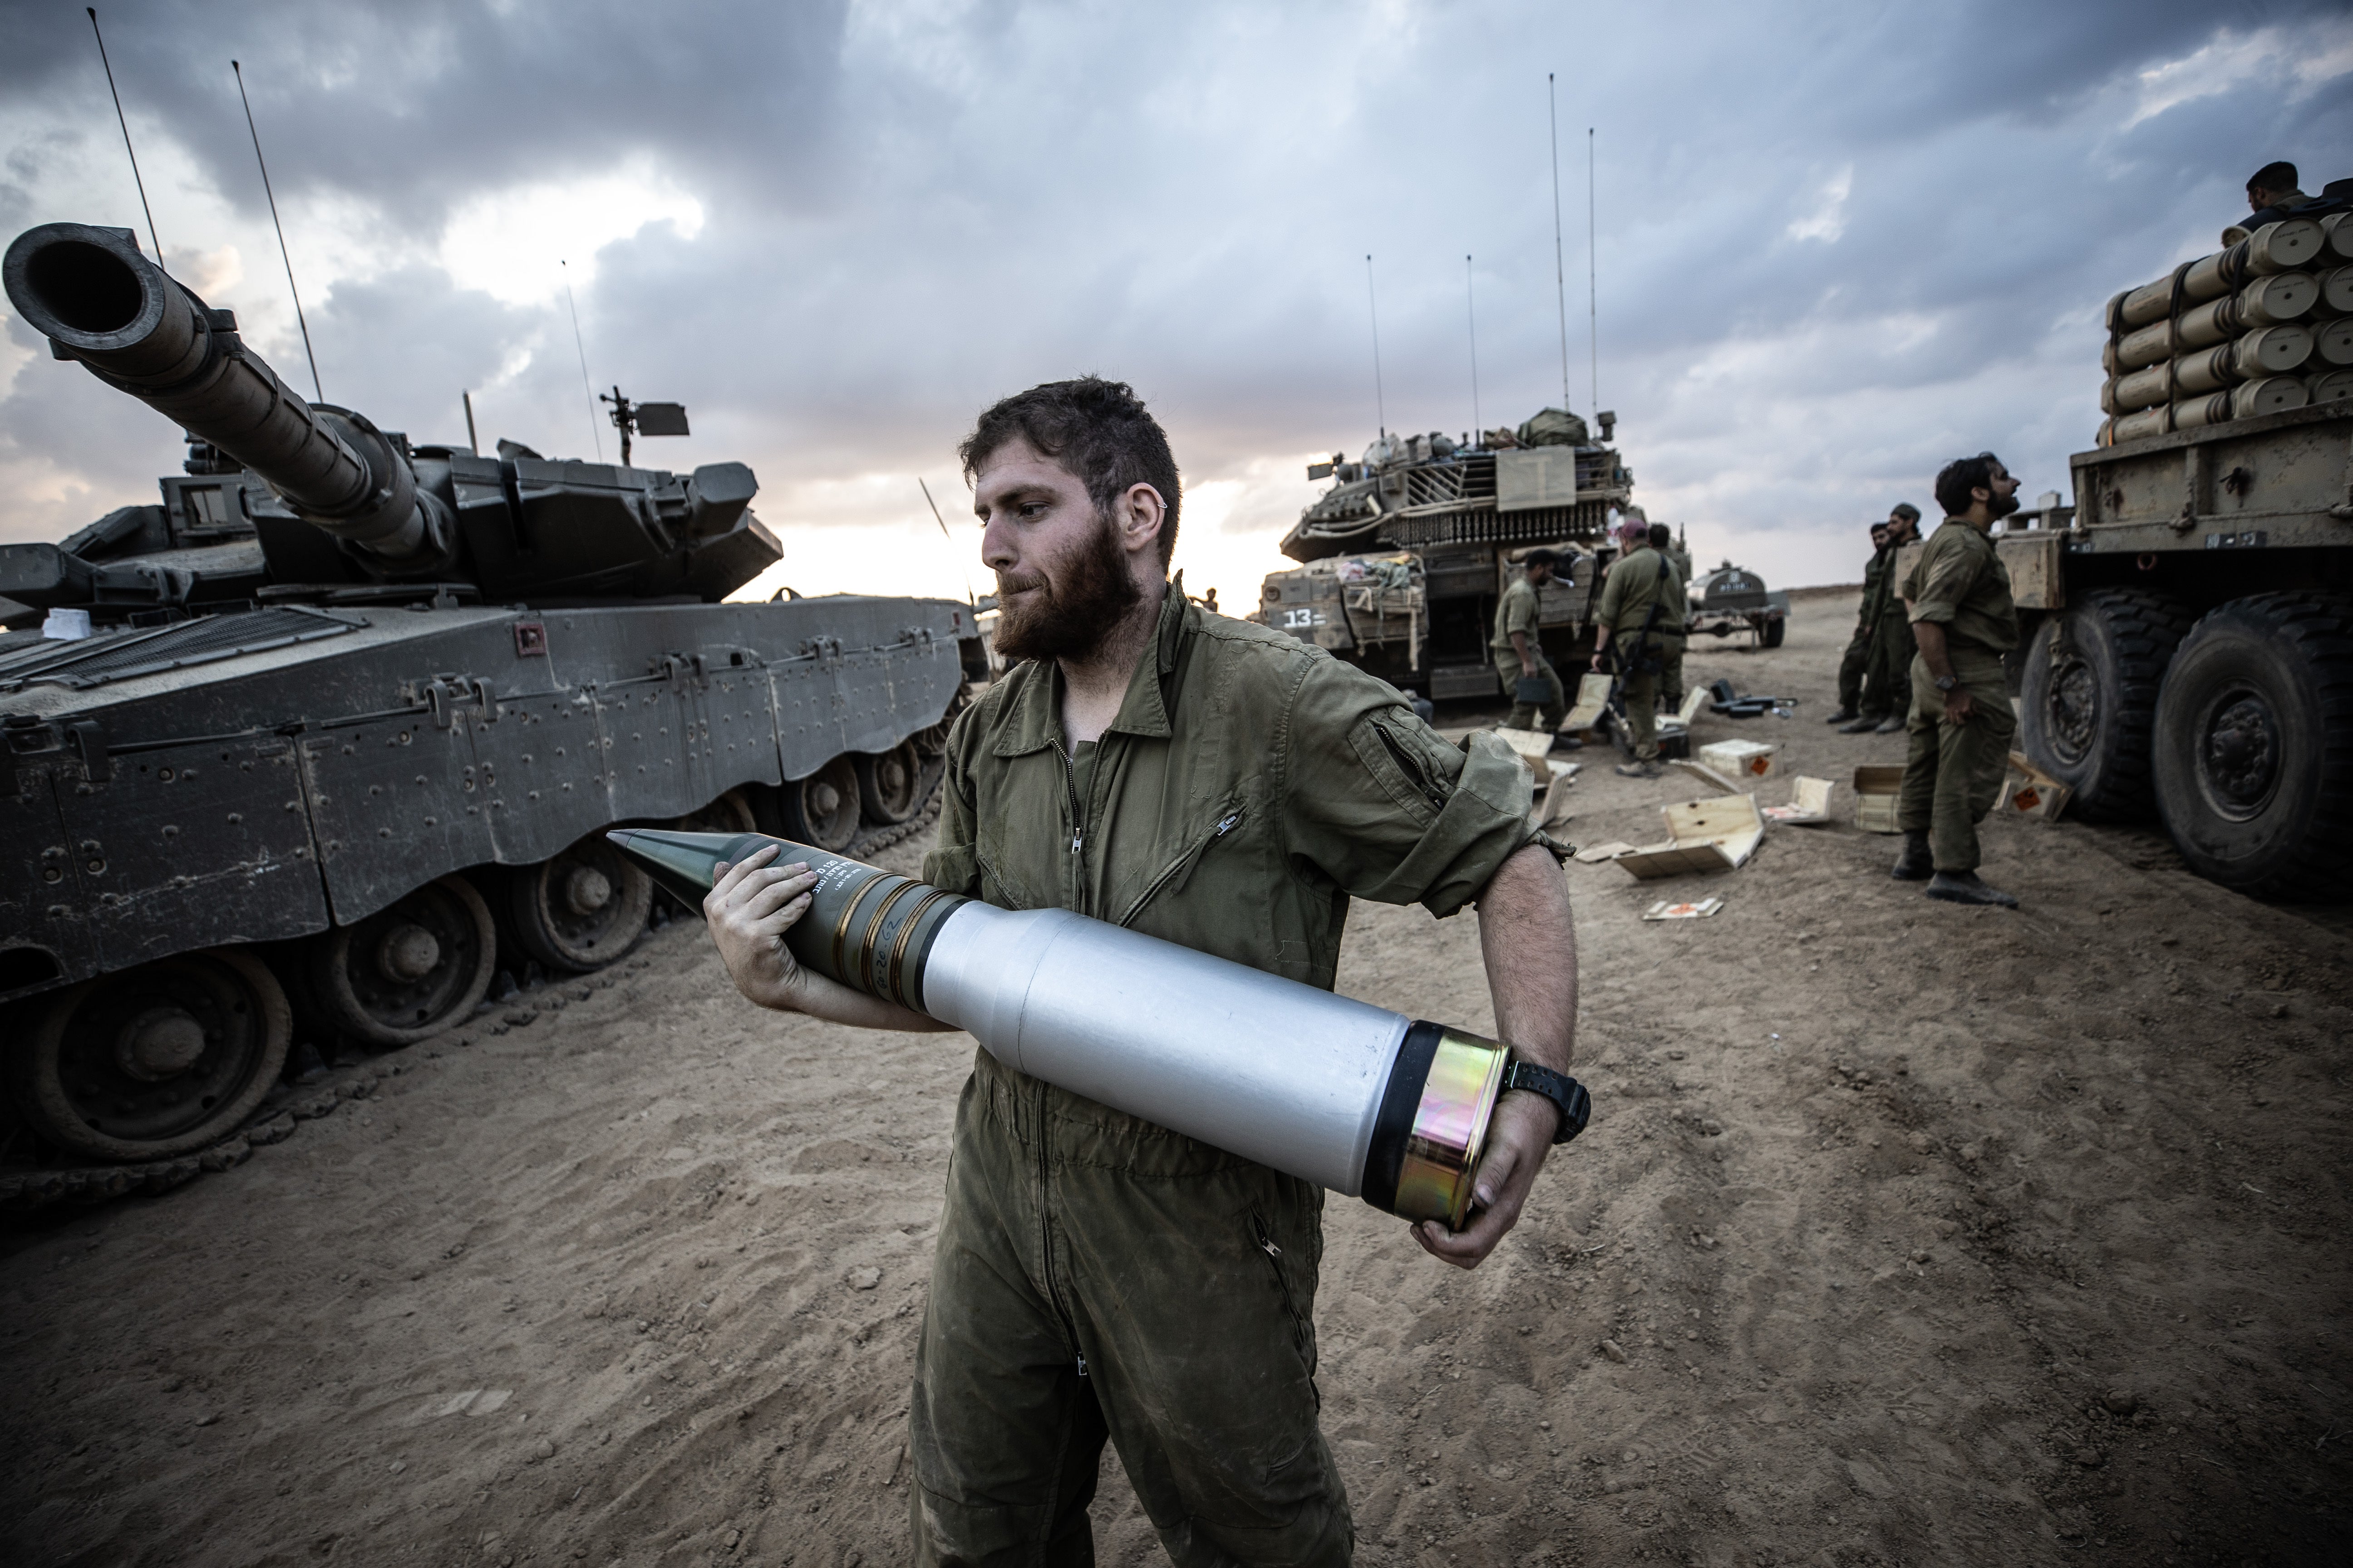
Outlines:
{"label": "metal track visible beneath the left tank's road wheels", "polygon": [[[866,827],[849,846],[842,849],[845,856],[866,858],[875,851],[889,849],[892,844],[904,844],[920,832],[929,832],[939,823],[939,776],[941,769],[934,764],[929,790],[925,795],[922,809],[904,823],[892,823],[887,827]],[[635,952],[635,947],[631,950]],[[624,954],[626,957],[626,954]],[[616,959],[619,961],[619,959]],[[553,985],[595,985],[598,973],[567,976]],[[605,980],[612,983],[609,978]],[[487,1023],[494,1009],[511,1006],[508,1001],[485,1001],[475,1009],[475,1016],[464,1025]],[[492,1025],[494,1032],[506,1030]],[[435,1041],[447,1037],[435,1037]],[[433,1041],[416,1041],[433,1044]],[[151,1159],[127,1166],[42,1166],[42,1168],[7,1168],[0,1171],[0,1213],[28,1213],[35,1208],[49,1208],[56,1204],[104,1204],[108,1199],[134,1197],[134,1194],[162,1194],[174,1187],[193,1182],[198,1175],[212,1175],[219,1171],[233,1171],[252,1159],[254,1150],[268,1147],[273,1143],[285,1143],[304,1121],[318,1121],[320,1117],[332,1117],[346,1105],[367,1100],[376,1084],[388,1077],[400,1077],[407,1072],[402,1056],[416,1046],[400,1046],[386,1051],[365,1063],[353,1063],[351,1067],[336,1067],[325,1079],[311,1084],[287,1084],[285,1091],[273,1100],[266,1100],[242,1128],[212,1145],[209,1150],[198,1150],[195,1154],[179,1154],[174,1159]]]}

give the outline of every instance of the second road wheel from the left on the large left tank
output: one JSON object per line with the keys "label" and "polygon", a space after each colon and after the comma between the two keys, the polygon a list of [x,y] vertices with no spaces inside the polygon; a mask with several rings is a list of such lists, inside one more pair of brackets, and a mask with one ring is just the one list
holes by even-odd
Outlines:
{"label": "second road wheel from the left on the large left tank", "polygon": [[318,938],[311,990],[344,1032],[407,1046],[466,1018],[496,961],[489,905],[464,877],[442,877]]}

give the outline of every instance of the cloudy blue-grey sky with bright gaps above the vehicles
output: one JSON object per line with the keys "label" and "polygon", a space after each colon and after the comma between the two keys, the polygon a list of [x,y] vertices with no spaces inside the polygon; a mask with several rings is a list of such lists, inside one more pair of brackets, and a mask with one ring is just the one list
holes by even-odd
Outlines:
{"label": "cloudy blue-grey sky with bright gaps above the vehicles", "polygon": [[[2353,19],[2287,0],[1087,5],[115,0],[172,270],[294,386],[245,78],[329,402],[593,456],[588,376],[687,404],[642,463],[748,461],[802,592],[986,588],[953,447],[988,400],[1132,381],[1186,473],[1179,567],[1282,567],[1379,418],[1562,395],[1654,520],[1774,583],[1998,449],[2066,489],[2099,308],[2214,249],[2259,165],[2353,174]],[[146,219],[82,5],[0,0],[0,233]],[[2348,167],[2337,167],[2337,162]],[[1466,268],[1464,259],[1471,256]],[[5,315],[5,301],[0,301]],[[14,317],[0,541],[153,501],[176,433]],[[948,515],[925,510],[918,477]]]}

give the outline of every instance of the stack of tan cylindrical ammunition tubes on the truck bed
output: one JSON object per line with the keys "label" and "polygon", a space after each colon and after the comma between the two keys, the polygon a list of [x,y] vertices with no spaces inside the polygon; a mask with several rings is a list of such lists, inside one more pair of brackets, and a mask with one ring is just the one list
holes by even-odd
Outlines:
{"label": "stack of tan cylindrical ammunition tubes on the truck bed", "polygon": [[2353,214],[2264,223],[2108,301],[2099,444],[2353,397]]}

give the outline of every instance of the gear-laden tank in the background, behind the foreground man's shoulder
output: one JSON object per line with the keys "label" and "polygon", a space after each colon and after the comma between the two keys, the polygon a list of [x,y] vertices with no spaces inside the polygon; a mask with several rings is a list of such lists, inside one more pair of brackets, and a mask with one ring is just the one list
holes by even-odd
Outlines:
{"label": "gear-laden tank in the background, behind the foreground man's shoulder", "polygon": [[1614,559],[1609,517],[1633,473],[1607,444],[1617,414],[1546,409],[1478,442],[1381,435],[1365,456],[1308,468],[1332,480],[1282,536],[1297,571],[1275,571],[1252,621],[1329,649],[1400,691],[1433,701],[1499,696],[1487,639],[1494,607],[1537,548],[1560,555],[1539,597],[1539,637],[1555,665],[1593,651],[1591,607]]}

